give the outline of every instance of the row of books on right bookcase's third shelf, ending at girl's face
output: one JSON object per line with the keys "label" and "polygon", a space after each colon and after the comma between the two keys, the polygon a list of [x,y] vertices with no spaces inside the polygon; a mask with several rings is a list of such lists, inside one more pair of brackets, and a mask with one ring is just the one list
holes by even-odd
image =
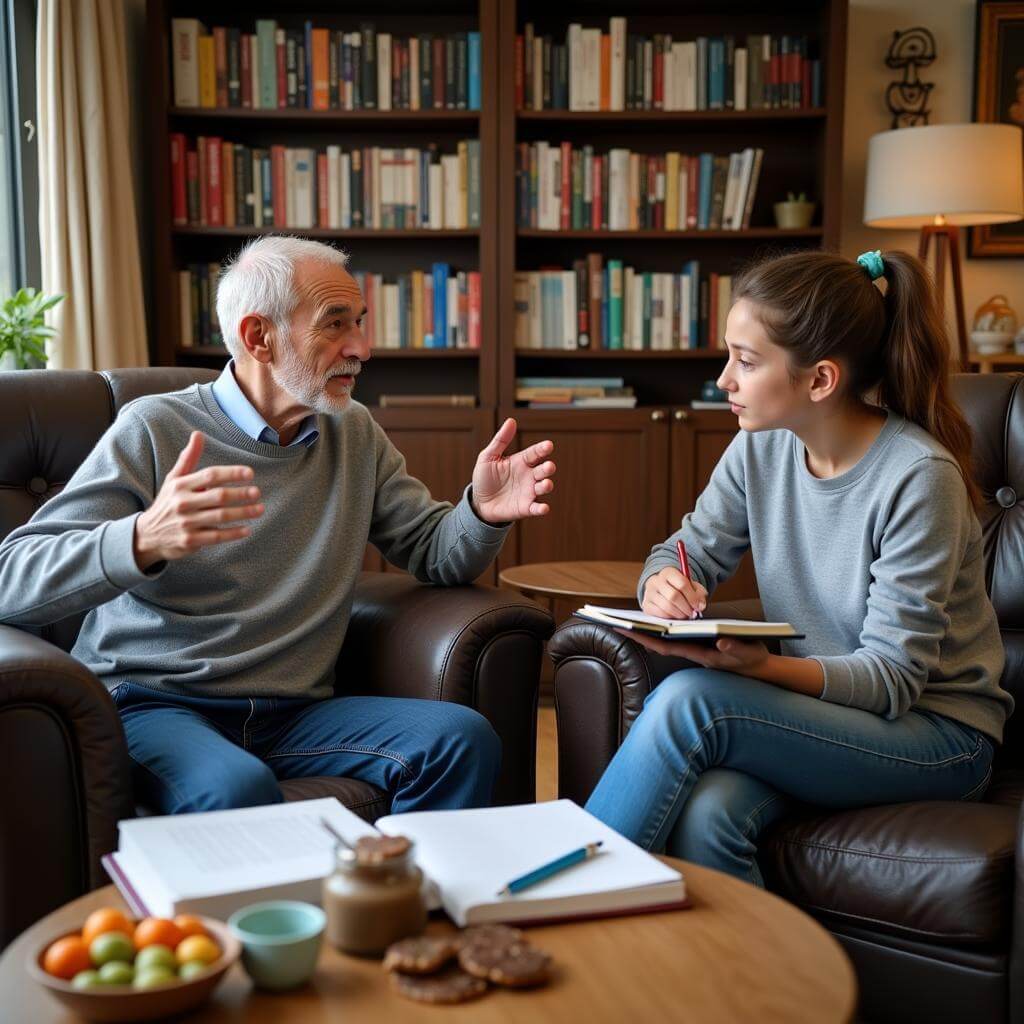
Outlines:
{"label": "row of books on right bookcase's third shelf, ending at girl's face", "polygon": [[513,287],[517,349],[723,348],[732,302],[732,278],[701,274],[697,260],[660,273],[600,253],[570,269],[517,271]]}

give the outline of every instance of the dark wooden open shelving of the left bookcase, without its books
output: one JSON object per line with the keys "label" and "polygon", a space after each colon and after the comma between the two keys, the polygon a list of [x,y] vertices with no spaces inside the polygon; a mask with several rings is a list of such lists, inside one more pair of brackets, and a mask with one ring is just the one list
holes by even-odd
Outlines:
{"label": "dark wooden open shelving of the left bookcase, without its books", "polygon": [[[182,347],[179,298],[175,271],[189,264],[218,262],[236,252],[249,238],[286,230],[343,246],[353,271],[375,272],[386,281],[414,269],[429,269],[435,261],[456,270],[478,271],[481,287],[481,336],[498,333],[496,271],[497,217],[497,33],[496,0],[440,0],[430,6],[408,0],[382,0],[367,5],[309,0],[300,4],[252,5],[238,0],[148,0],[147,56],[151,75],[151,153],[154,184],[154,304],[153,359],[159,365],[196,365],[218,368],[226,359],[219,345],[197,343]],[[254,33],[256,19],[273,18],[280,28],[301,30],[306,20],[332,32],[350,32],[373,24],[378,33],[396,37],[478,32],[480,34],[479,110],[310,110],[196,108],[174,103],[171,67],[171,20],[199,18],[208,30],[227,26]],[[397,104],[395,104],[397,106]],[[172,217],[171,171],[168,152],[174,133],[191,142],[198,136],[218,136],[254,147],[273,144],[323,152],[326,146],[415,146],[436,144],[455,152],[461,139],[480,143],[480,226],[464,228],[281,228],[252,225],[175,223]],[[497,399],[496,344],[479,349],[377,347],[374,374],[360,381],[359,398],[376,407],[379,395],[394,392],[462,392],[477,397],[477,410],[462,415],[473,423],[474,436],[486,433]],[[481,410],[488,411],[479,425]],[[392,416],[381,411],[382,417]],[[489,436],[489,435],[488,435]],[[484,438],[485,440],[486,438]]]}

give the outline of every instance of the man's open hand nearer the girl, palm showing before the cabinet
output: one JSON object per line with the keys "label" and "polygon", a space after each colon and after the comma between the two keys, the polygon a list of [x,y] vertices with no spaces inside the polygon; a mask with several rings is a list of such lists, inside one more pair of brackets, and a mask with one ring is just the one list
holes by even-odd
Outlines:
{"label": "man's open hand nearer the girl, palm showing before the cabinet", "polygon": [[506,420],[490,443],[476,457],[473,469],[473,508],[484,522],[511,522],[547,515],[540,499],[555,489],[555,464],[548,458],[551,441],[538,441],[522,452],[505,455],[515,436],[515,420]]}

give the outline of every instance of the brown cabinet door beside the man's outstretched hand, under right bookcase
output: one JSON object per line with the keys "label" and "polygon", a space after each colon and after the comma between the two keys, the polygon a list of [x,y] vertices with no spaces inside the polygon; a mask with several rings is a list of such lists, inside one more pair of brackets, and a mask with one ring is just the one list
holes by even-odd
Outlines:
{"label": "brown cabinet door beside the man's outstretched hand, under right bookcase", "polygon": [[550,438],[558,470],[551,512],[516,525],[500,564],[642,561],[665,536],[667,412],[517,409],[513,415],[518,445]]}

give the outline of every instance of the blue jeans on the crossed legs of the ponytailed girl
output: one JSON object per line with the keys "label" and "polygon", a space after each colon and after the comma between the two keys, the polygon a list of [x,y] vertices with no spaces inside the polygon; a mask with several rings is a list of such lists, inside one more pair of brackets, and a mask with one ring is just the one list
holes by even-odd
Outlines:
{"label": "blue jeans on the crossed legs of the ponytailed girl", "polygon": [[763,885],[758,835],[799,802],[977,800],[992,743],[952,719],[894,721],[714,669],[648,695],[587,810],[647,850]]}

